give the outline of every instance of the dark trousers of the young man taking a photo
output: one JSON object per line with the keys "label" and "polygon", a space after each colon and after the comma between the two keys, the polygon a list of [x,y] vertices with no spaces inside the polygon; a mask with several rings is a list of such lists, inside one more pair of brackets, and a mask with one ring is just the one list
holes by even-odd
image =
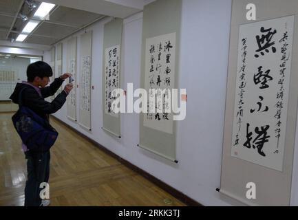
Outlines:
{"label": "dark trousers of the young man taking a photo", "polygon": [[25,186],[25,206],[40,206],[41,183],[48,182],[50,176],[50,151],[25,152],[28,179]]}

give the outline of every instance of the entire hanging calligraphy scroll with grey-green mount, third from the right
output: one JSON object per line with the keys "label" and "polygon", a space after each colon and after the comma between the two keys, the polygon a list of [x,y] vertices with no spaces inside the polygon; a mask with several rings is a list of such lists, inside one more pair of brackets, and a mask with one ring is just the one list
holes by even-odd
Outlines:
{"label": "entire hanging calligraphy scroll with grey-green mount, third from the right", "polygon": [[120,88],[123,19],[105,24],[103,39],[103,130],[120,137],[120,113],[114,113],[116,91]]}

